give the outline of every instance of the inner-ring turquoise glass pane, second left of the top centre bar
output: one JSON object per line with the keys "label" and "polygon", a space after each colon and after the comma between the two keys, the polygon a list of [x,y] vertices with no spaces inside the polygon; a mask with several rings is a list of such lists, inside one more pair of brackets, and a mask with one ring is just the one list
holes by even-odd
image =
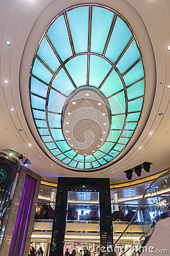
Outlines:
{"label": "inner-ring turquoise glass pane, second left of the top centre bar", "polygon": [[70,81],[69,77],[67,76],[66,72],[61,69],[57,76],[54,78],[52,82],[52,87],[59,92],[65,94],[66,96],[69,96],[71,92],[73,92],[74,85]]}

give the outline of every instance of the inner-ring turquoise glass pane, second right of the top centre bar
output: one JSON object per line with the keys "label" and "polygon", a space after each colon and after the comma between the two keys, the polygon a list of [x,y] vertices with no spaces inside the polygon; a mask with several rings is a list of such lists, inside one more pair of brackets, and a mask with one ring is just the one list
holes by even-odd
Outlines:
{"label": "inner-ring turquoise glass pane, second right of the top centre bar", "polygon": [[117,93],[118,91],[124,89],[124,85],[122,84],[122,81],[120,79],[120,76],[114,69],[111,72],[111,75],[109,75],[108,79],[104,82],[104,84],[101,86],[101,92],[104,93],[105,97],[109,97],[114,93]]}

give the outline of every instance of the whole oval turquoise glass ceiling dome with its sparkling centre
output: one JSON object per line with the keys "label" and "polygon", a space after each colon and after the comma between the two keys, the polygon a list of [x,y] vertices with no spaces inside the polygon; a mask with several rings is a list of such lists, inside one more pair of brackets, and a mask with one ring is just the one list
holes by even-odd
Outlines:
{"label": "whole oval turquoise glass ceiling dome with its sparkling centre", "polygon": [[57,15],[37,47],[29,90],[35,125],[58,164],[97,171],[121,157],[145,96],[143,60],[126,20],[99,5]]}

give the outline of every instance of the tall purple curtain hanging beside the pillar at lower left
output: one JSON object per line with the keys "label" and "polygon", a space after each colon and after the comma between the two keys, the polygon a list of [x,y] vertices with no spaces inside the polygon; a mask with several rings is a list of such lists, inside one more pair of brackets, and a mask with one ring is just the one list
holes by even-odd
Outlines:
{"label": "tall purple curtain hanging beside the pillar at lower left", "polygon": [[36,179],[29,175],[26,175],[25,177],[8,256],[23,256],[24,254],[29,219],[31,216],[33,198],[36,189],[36,181]]}

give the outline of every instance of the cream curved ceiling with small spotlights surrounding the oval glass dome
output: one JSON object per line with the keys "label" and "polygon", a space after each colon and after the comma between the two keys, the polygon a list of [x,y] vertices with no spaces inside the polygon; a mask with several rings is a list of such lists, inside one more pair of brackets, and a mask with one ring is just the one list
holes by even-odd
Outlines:
{"label": "cream curved ceiling with small spotlights surrounding the oval glass dome", "polygon": [[[86,3],[81,1],[81,3],[83,2]],[[83,173],[66,171],[45,154],[30,111],[29,71],[37,44],[45,28],[54,16],[77,3],[80,2],[73,0],[64,2],[18,0],[9,3],[3,1],[0,10],[0,149],[11,148],[25,155],[31,162],[31,166],[29,166],[31,170],[40,174],[42,179],[54,182],[57,182],[58,176],[82,177]],[[140,121],[141,126],[135,131],[135,137],[139,137],[138,141],[134,143],[135,138],[134,141],[132,138],[131,150],[121,160],[113,162],[112,166],[95,173],[86,174],[84,172],[86,177],[110,177],[113,184],[127,181],[124,171],[145,161],[153,164],[150,173],[142,171],[141,177],[165,170],[170,165],[170,89],[166,88],[170,84],[168,68],[170,52],[167,51],[167,46],[170,45],[170,2],[168,0],[117,0],[93,1],[93,3],[111,7],[128,20],[138,39],[146,69],[145,107]],[[6,46],[5,39],[11,41],[10,47]],[[24,52],[27,52],[27,55]],[[8,80],[8,84],[5,84],[3,80]],[[153,96],[154,103],[151,105]],[[11,108],[14,108],[15,111],[10,112]],[[150,108],[151,111],[148,113]],[[163,114],[159,115],[160,113]],[[143,130],[142,133],[141,130]],[[136,175],[133,175],[133,179],[137,178]]]}

